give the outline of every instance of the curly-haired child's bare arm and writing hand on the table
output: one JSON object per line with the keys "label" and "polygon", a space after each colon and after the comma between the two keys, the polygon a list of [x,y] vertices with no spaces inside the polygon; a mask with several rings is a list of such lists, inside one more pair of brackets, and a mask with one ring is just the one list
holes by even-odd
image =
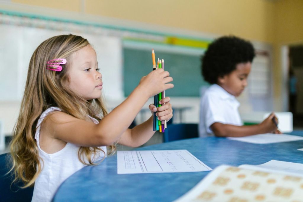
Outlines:
{"label": "curly-haired child's bare arm and writing hand on the table", "polygon": [[217,137],[244,137],[248,135],[271,133],[281,133],[276,130],[277,126],[272,121],[275,118],[275,114],[270,114],[261,124],[250,126],[236,126],[231,124],[214,123],[211,125],[211,130]]}

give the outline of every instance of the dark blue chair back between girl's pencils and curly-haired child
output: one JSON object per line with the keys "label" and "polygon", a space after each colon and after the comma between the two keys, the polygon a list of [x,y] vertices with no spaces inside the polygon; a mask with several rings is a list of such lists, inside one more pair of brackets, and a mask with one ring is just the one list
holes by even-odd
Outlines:
{"label": "dark blue chair back between girl's pencils and curly-haired child", "polygon": [[198,124],[169,124],[164,131],[163,142],[199,137]]}

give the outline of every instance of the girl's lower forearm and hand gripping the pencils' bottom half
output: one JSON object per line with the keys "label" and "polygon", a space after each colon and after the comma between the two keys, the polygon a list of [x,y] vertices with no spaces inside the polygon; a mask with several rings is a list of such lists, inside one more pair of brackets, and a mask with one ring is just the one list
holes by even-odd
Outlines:
{"label": "girl's lower forearm and hand gripping the pencils' bottom half", "polygon": [[[169,121],[172,117],[172,108],[171,104],[169,103],[170,98],[166,97],[163,98],[160,101],[161,103],[166,103],[165,105],[156,108],[155,105],[150,104],[149,109],[151,110],[152,114],[154,111],[158,111],[156,113],[156,116],[158,117],[158,120]],[[119,140],[119,144],[123,144],[128,147],[138,147],[142,144],[146,143],[153,134],[155,134],[155,131],[153,131],[153,115],[142,124],[139,124],[135,126],[132,129],[127,129],[122,135],[121,139]]]}

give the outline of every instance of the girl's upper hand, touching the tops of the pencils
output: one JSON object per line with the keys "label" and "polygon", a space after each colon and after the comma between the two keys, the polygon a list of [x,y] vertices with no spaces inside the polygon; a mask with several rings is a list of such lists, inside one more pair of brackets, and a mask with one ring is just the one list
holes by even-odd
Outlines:
{"label": "girl's upper hand, touching the tops of the pencils", "polygon": [[169,76],[168,71],[163,69],[156,69],[151,71],[148,75],[142,77],[138,88],[146,92],[148,97],[154,96],[166,89],[173,88],[174,84],[170,84],[173,79]]}

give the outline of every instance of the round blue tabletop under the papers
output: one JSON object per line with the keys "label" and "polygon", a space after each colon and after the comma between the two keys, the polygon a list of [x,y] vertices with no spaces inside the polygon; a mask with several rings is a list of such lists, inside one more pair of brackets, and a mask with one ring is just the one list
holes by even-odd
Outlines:
{"label": "round blue tabletop under the papers", "polygon": [[[303,136],[302,131],[291,134]],[[137,150],[187,149],[211,168],[221,164],[263,164],[272,159],[303,163],[303,141],[250,144],[226,138],[192,138]],[[209,171],[160,174],[117,174],[117,155],[86,166],[59,187],[53,201],[172,201],[194,187]]]}

